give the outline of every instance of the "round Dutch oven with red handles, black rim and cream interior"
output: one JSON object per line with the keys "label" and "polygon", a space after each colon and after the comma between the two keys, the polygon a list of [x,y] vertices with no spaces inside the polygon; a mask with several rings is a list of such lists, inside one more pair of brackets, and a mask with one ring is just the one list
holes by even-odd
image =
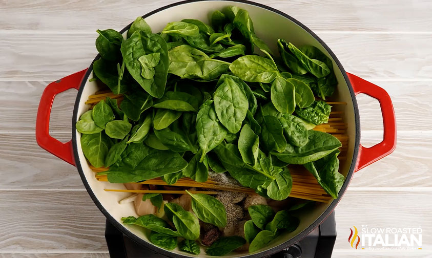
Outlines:
{"label": "round Dutch oven with red handles, black rim and cream interior", "polygon": [[[346,160],[340,163],[340,173],[345,176],[346,180],[339,192],[339,198],[330,203],[317,204],[312,212],[302,214],[300,217],[301,222],[297,230],[280,235],[265,249],[253,254],[232,253],[228,256],[264,257],[293,245],[319,226],[339,203],[354,173],[393,152],[396,147],[396,119],[392,100],[390,100],[387,92],[371,82],[345,72],[335,54],[315,33],[293,17],[271,7],[249,1],[184,1],[164,6],[143,17],[152,27],[153,31],[161,31],[167,23],[183,18],[208,20],[208,15],[214,10],[220,10],[229,5],[235,5],[249,11],[254,21],[255,32],[273,48],[272,50],[274,53],[278,53],[276,49],[277,39],[283,38],[286,41],[293,42],[296,46],[315,46],[327,56],[330,56],[333,60],[334,72],[339,82],[337,93],[332,97],[332,101],[347,103],[343,106],[337,105],[333,109],[336,111],[343,111],[343,121],[348,125],[346,134],[349,139]],[[130,25],[122,29],[120,33],[125,35],[129,27]],[[95,60],[98,58],[99,55],[96,56]],[[85,101],[88,99],[89,95],[94,94],[98,90],[96,82],[89,81],[93,77],[92,65],[93,63],[91,63],[87,69],[48,84],[40,99],[39,109],[37,111],[37,143],[48,152],[77,167],[79,175],[94,203],[101,212],[105,214],[109,221],[129,236],[129,238],[163,255],[171,257],[189,257],[186,253],[178,250],[167,251],[161,249],[151,244],[145,232],[142,230],[122,225],[120,222],[121,217],[136,216],[133,205],[124,204],[120,206],[118,201],[124,196],[122,196],[121,193],[104,191],[104,188],[107,188],[107,184],[109,183],[100,182],[94,178],[94,173],[90,169],[81,150],[80,134],[75,129],[75,123],[80,115],[89,109],[89,105],[86,105]],[[56,94],[72,88],[78,91],[72,115],[72,140],[62,143],[49,134],[51,106]],[[376,98],[381,107],[384,137],[382,142],[372,147],[363,147],[360,144],[360,117],[356,101],[356,95],[359,93],[364,93]],[[117,184],[111,184],[110,188],[114,188],[113,185]],[[124,186],[118,184],[116,187],[122,189]],[[207,255],[205,252],[201,252],[198,256]]]}

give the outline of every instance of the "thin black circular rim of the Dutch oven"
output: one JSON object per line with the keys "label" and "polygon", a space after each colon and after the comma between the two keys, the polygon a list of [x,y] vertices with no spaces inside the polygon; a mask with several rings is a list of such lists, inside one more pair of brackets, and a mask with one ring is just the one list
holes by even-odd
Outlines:
{"label": "thin black circular rim of the Dutch oven", "polygon": [[[145,15],[143,15],[143,18],[146,18],[152,14],[155,14],[157,12],[160,12],[162,10],[174,7],[174,6],[178,6],[178,5],[182,5],[182,4],[187,4],[187,3],[193,3],[193,2],[203,2],[203,1],[213,1],[213,0],[186,0],[186,1],[181,1],[181,2],[177,2],[174,4],[170,4],[167,6],[163,6],[161,8],[158,8],[154,11],[151,11]],[[327,209],[325,209],[325,211],[321,214],[321,216],[314,222],[312,223],[310,226],[308,226],[305,230],[303,230],[302,232],[300,232],[299,234],[297,234],[296,236],[294,236],[294,238],[290,239],[289,241],[286,241],[276,247],[273,247],[271,249],[259,252],[259,253],[254,253],[254,254],[246,254],[243,256],[239,256],[239,257],[248,257],[248,258],[260,258],[260,257],[265,257],[265,256],[269,256],[272,255],[274,253],[280,252],[283,249],[297,243],[298,241],[300,241],[301,239],[303,239],[306,235],[308,235],[310,232],[312,232],[312,230],[314,230],[316,227],[318,227],[335,209],[336,205],[339,203],[339,201],[341,200],[341,198],[343,197],[346,188],[349,185],[349,182],[351,182],[351,179],[353,177],[354,174],[354,169],[357,163],[357,158],[358,158],[358,153],[359,153],[359,144],[360,144],[360,117],[359,117],[359,110],[358,110],[358,105],[357,105],[357,100],[355,97],[355,93],[353,90],[353,87],[351,85],[351,82],[348,79],[348,75],[346,74],[344,68],[342,67],[342,64],[340,63],[340,61],[338,60],[338,58],[336,57],[336,55],[333,53],[333,51],[328,48],[328,46],[324,43],[324,41],[322,41],[321,38],[319,38],[314,32],[312,32],[312,30],[310,30],[309,28],[307,28],[306,26],[304,26],[302,23],[300,23],[298,20],[296,20],[295,18],[291,17],[290,15],[287,15],[286,13],[283,13],[279,10],[276,10],[272,7],[263,5],[263,4],[259,4],[259,3],[255,3],[255,2],[251,2],[251,1],[247,1],[247,0],[219,0],[219,1],[229,1],[229,2],[238,2],[238,3],[244,3],[244,4],[249,4],[249,5],[254,5],[254,6],[258,6],[261,7],[263,9],[275,12],[277,14],[280,14],[282,16],[284,16],[287,19],[290,19],[292,22],[296,23],[298,26],[300,26],[301,28],[303,28],[305,31],[307,31],[309,34],[311,34],[316,40],[318,40],[318,42],[320,42],[320,44],[325,48],[325,50],[327,50],[327,52],[332,56],[332,58],[335,60],[336,65],[338,66],[338,68],[341,70],[343,77],[346,81],[346,84],[348,85],[348,89],[349,89],[349,93],[351,94],[351,98],[353,100],[353,105],[354,105],[354,116],[355,116],[355,127],[356,127],[356,139],[355,139],[355,145],[354,145],[354,154],[353,154],[353,159],[351,161],[351,166],[349,167],[349,171],[348,174],[346,176],[345,182],[342,185],[342,188],[339,191],[339,197],[335,200],[332,201],[332,203],[330,204],[330,206],[327,207]],[[127,27],[125,27],[124,29],[122,29],[120,31],[120,33],[125,32],[126,30],[128,30],[130,28],[130,26],[132,25],[129,24]],[[144,240],[142,240],[141,238],[139,238],[137,235],[133,234],[131,231],[129,230],[125,230],[124,226],[122,226],[116,219],[114,219],[111,214],[104,208],[104,206],[102,206],[102,204],[99,202],[99,200],[96,198],[96,196],[94,195],[93,190],[91,189],[89,183],[87,182],[87,179],[84,175],[84,171],[83,171],[83,167],[81,166],[81,162],[79,160],[79,156],[78,156],[78,145],[76,143],[77,141],[77,137],[76,137],[76,128],[75,128],[75,122],[77,121],[77,116],[78,116],[78,105],[80,102],[80,98],[81,95],[83,94],[83,89],[85,87],[85,84],[87,82],[87,78],[89,77],[90,73],[92,72],[92,67],[93,67],[93,63],[95,60],[99,59],[99,55],[96,56],[96,58],[92,61],[90,67],[88,68],[86,74],[83,77],[83,80],[81,81],[81,85],[79,87],[78,90],[78,94],[76,96],[76,100],[75,100],[75,105],[74,105],[74,111],[73,111],[73,117],[72,117],[72,142],[73,142],[73,155],[75,158],[75,163],[76,163],[76,167],[78,169],[79,175],[81,177],[81,180],[84,183],[84,186],[87,189],[87,192],[89,193],[90,197],[92,198],[93,202],[96,204],[96,206],[99,208],[99,210],[104,213],[105,217],[107,217],[107,219],[109,220],[109,222],[114,225],[118,230],[120,230],[122,233],[124,233],[125,235],[127,235],[130,239],[134,240],[135,242],[137,242],[138,244],[147,247],[153,251],[156,251],[162,255],[168,256],[168,257],[174,257],[174,258],[188,258],[190,256],[188,256],[186,253],[184,255],[182,254],[178,254],[178,253],[174,253],[174,252],[170,252],[168,250],[162,249],[160,247],[157,247],[149,242],[146,242]]]}

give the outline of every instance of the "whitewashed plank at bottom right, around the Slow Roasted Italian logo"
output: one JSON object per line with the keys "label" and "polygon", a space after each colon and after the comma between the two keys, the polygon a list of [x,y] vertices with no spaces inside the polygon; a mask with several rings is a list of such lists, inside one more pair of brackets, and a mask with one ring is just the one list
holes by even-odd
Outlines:
{"label": "whitewashed plank at bottom right, around the Slow Roasted Italian logo", "polygon": [[[356,191],[348,190],[335,209],[337,239],[335,249],[352,250],[348,243],[349,228],[421,227],[422,248],[432,248],[431,191]],[[358,250],[357,250],[358,251]],[[392,250],[388,250],[391,253]],[[394,250],[395,255],[398,252]],[[348,256],[346,256],[348,257]]]}

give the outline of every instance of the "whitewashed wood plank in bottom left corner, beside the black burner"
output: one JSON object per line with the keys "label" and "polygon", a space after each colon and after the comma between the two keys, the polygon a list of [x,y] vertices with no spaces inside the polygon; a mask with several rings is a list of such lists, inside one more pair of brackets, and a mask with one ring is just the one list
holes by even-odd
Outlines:
{"label": "whitewashed wood plank in bottom left corner, beside the black burner", "polygon": [[2,191],[1,195],[0,252],[107,251],[105,217],[87,192]]}

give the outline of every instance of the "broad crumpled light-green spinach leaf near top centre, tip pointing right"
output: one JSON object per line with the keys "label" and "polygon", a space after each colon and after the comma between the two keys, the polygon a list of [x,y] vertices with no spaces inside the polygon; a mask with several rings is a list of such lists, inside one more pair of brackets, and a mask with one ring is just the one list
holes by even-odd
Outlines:
{"label": "broad crumpled light-green spinach leaf near top centre, tip pointing right", "polygon": [[169,73],[180,78],[213,80],[226,72],[230,63],[212,59],[204,52],[188,45],[171,49],[169,52]]}

